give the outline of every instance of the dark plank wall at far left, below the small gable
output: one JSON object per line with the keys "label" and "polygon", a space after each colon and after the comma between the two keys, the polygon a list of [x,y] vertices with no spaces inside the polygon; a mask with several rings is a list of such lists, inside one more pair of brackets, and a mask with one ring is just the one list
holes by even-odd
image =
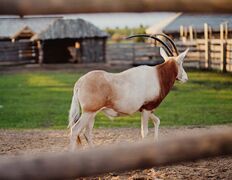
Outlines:
{"label": "dark plank wall at far left, below the small gable", "polygon": [[0,65],[36,62],[38,48],[35,42],[0,42]]}

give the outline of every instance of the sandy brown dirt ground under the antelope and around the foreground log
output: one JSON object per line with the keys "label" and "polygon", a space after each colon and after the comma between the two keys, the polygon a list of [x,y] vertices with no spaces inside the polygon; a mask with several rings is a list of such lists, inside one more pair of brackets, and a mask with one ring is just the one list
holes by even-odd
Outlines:
{"label": "sandy brown dirt ground under the antelope and around the foreground log", "polygon": [[[232,130],[232,125],[209,127],[160,128],[159,139],[185,136],[217,130]],[[153,130],[149,130],[149,138]],[[67,151],[68,130],[0,130],[0,157],[20,154]],[[94,129],[96,146],[140,141],[140,129],[107,128]],[[86,147],[86,146],[85,146]],[[89,179],[232,179],[232,156],[173,166],[137,170],[124,173],[108,173]],[[86,178],[85,178],[86,179]]]}

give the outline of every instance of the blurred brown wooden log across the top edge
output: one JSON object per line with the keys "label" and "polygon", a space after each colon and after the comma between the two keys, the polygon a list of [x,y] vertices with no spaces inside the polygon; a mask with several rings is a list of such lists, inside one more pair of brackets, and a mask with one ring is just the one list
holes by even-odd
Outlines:
{"label": "blurred brown wooden log across the top edge", "polygon": [[0,0],[0,14],[65,14],[98,12],[231,13],[231,0]]}

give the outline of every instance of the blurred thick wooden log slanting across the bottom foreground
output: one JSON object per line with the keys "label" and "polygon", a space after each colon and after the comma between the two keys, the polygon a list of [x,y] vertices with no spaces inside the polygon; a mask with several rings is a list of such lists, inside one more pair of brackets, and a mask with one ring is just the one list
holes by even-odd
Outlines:
{"label": "blurred thick wooden log slanting across the bottom foreground", "polygon": [[1,159],[0,179],[70,179],[170,165],[232,154],[232,130],[80,150],[77,153],[26,155]]}

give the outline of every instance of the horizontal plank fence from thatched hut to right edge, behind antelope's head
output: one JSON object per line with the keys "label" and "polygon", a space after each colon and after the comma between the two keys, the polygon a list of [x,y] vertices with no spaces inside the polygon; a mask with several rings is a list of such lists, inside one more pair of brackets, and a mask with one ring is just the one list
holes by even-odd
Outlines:
{"label": "horizontal plank fence from thatched hut to right edge, behind antelope's head", "polygon": [[[196,39],[177,41],[180,52],[189,48],[185,66],[196,69],[232,72],[232,40],[231,39]],[[159,46],[149,43],[114,43],[107,44],[106,59],[110,64],[156,65],[163,60],[159,54]]]}

